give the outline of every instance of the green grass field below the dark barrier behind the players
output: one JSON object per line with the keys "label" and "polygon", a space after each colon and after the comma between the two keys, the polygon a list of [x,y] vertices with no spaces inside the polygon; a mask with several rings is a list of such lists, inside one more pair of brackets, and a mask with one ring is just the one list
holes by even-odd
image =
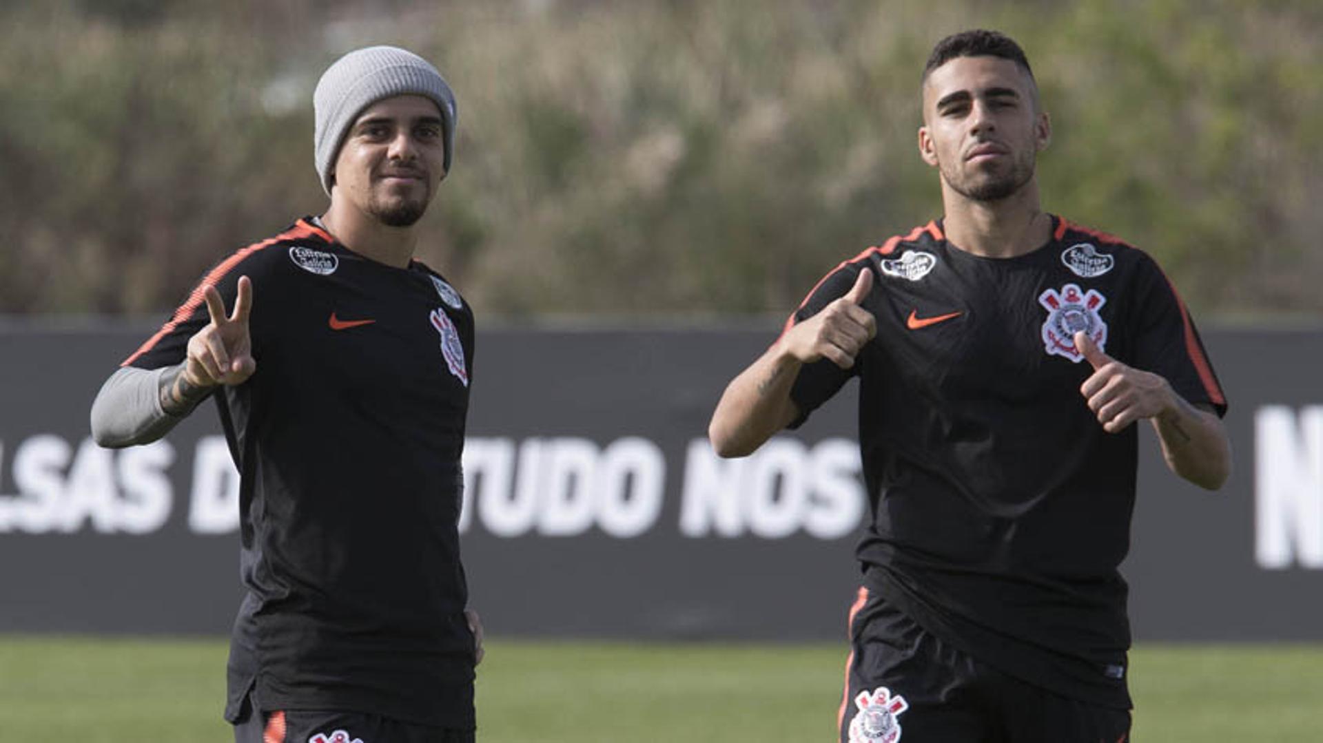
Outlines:
{"label": "green grass field below the dark barrier behind the players", "polygon": [[[479,740],[832,740],[843,644],[488,643]],[[220,640],[0,639],[0,740],[233,740]],[[1134,740],[1323,739],[1323,645],[1142,645]]]}

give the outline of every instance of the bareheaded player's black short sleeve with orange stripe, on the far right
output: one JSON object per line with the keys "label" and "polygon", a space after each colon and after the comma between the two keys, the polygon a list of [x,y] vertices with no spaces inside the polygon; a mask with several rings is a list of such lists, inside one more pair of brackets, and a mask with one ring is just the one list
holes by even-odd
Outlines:
{"label": "bareheaded player's black short sleeve with orange stripe, on the far right", "polygon": [[1148,255],[1142,255],[1135,286],[1140,299],[1131,320],[1138,331],[1131,365],[1162,375],[1188,402],[1209,405],[1217,415],[1225,415],[1226,397],[1195,320],[1176,287]]}

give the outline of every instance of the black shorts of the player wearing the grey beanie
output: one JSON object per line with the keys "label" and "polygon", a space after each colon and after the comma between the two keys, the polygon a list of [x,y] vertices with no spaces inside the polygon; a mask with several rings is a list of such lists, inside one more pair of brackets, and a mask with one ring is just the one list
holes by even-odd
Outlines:
{"label": "black shorts of the player wearing the grey beanie", "polygon": [[363,713],[259,710],[251,695],[234,723],[234,743],[474,743],[474,735]]}

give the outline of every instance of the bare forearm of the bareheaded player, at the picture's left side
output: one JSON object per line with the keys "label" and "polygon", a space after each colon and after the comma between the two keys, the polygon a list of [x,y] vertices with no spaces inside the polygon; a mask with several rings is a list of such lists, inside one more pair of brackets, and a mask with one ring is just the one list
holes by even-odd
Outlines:
{"label": "bare forearm of the bareheaded player, at the picture's left side", "polygon": [[790,389],[800,366],[778,342],[730,381],[708,426],[720,456],[753,453],[799,415]]}

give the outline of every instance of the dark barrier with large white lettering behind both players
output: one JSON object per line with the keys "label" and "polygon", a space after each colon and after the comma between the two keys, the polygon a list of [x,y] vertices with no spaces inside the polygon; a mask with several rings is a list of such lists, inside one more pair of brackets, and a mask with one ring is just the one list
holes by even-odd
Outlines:
{"label": "dark barrier with large white lettering behind both players", "polygon": [[[237,480],[209,407],[151,447],[87,438],[152,328],[0,327],[0,631],[225,633]],[[705,440],[771,329],[488,329],[466,450],[472,603],[503,636],[836,639],[864,514],[853,385],[745,460]],[[1323,332],[1205,336],[1236,471],[1205,493],[1142,435],[1142,640],[1323,639]]]}

